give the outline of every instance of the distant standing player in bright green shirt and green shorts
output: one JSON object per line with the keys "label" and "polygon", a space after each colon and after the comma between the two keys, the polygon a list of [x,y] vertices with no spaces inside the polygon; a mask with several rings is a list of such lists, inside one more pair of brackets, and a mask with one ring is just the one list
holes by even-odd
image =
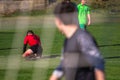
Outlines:
{"label": "distant standing player in bright green shirt and green shorts", "polygon": [[78,19],[81,29],[86,29],[86,26],[91,24],[90,8],[86,5],[86,2],[86,0],[81,0],[81,3],[77,5]]}

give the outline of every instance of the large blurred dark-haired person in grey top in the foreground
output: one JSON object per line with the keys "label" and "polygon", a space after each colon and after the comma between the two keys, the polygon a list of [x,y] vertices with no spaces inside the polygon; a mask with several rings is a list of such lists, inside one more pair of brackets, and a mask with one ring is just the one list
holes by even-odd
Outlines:
{"label": "large blurred dark-haired person in grey top in the foreground", "polygon": [[54,9],[55,23],[65,35],[59,66],[50,80],[105,80],[104,59],[93,36],[79,28],[77,8],[72,2],[58,3]]}

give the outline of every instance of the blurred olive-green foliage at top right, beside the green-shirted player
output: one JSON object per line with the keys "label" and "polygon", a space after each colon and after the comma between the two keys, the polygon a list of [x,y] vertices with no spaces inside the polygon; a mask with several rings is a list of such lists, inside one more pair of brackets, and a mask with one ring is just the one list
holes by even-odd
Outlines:
{"label": "blurred olive-green foliage at top right, beside the green-shirted player", "polygon": [[[80,0],[72,0],[77,4]],[[87,0],[88,5],[92,9],[105,9],[113,12],[120,12],[120,1],[119,0]]]}

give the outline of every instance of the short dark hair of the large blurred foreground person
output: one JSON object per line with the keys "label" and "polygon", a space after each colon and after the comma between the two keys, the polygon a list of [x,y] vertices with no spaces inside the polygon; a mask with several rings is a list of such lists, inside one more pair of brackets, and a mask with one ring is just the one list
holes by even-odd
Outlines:
{"label": "short dark hair of the large blurred foreground person", "polygon": [[65,25],[78,25],[77,6],[71,1],[63,1],[58,3],[54,9],[54,15],[58,17]]}

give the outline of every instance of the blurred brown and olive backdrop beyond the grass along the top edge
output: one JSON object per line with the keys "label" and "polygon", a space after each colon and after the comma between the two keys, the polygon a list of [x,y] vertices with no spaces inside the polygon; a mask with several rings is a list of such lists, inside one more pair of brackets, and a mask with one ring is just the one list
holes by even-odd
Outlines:
{"label": "blurred brown and olive backdrop beyond the grass along the top edge", "polygon": [[[21,1],[21,2],[19,2]],[[63,0],[0,0],[0,15],[11,15],[19,10],[40,10],[46,9],[52,3]],[[80,0],[71,0],[76,4],[80,3]],[[120,13],[120,1],[119,0],[87,0],[87,4],[92,10],[103,9],[108,12]],[[52,7],[54,8],[54,7]]]}

